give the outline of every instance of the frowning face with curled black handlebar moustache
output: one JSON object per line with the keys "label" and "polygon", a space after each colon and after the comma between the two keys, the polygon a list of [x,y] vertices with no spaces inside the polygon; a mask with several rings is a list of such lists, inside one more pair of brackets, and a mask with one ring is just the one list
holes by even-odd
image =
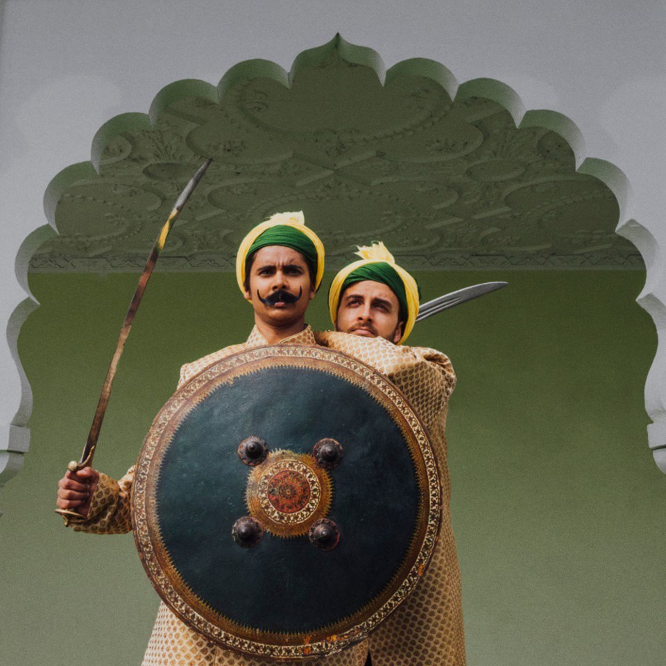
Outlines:
{"label": "frowning face with curled black handlebar moustache", "polygon": [[271,326],[296,323],[314,298],[314,284],[303,255],[281,245],[257,250],[248,286],[245,298],[252,303],[255,315]]}

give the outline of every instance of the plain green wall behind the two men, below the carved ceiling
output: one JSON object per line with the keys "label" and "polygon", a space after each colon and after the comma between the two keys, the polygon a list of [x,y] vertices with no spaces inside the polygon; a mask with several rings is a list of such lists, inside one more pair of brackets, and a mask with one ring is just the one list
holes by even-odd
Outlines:
{"label": "plain green wall behind the two men, below the carved ceiling", "polygon": [[[666,479],[647,449],[654,327],[642,273],[425,273],[426,299],[490,279],[504,291],[417,326],[447,352],[452,515],[470,666],[661,666]],[[157,597],[126,536],[51,513],[78,456],[133,275],[35,275],[19,339],[31,452],[0,495],[1,662],[138,666]],[[325,303],[311,323],[324,327]],[[228,309],[230,308],[230,309]],[[230,274],[156,274],[130,336],[96,466],[121,475],[185,361],[246,338]]]}

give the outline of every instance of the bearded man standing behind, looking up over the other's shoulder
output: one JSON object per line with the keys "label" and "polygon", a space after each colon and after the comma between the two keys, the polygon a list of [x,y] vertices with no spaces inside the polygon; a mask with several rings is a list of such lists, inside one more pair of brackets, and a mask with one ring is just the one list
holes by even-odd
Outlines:
{"label": "bearded man standing behind, looking up over the other's shoulder", "polygon": [[449,513],[446,415],[456,377],[444,354],[407,347],[418,314],[416,280],[383,243],[361,247],[361,259],[333,279],[329,307],[335,331],[320,345],[364,361],[397,384],[429,429],[443,489],[438,543],[429,568],[409,597],[366,641],[373,666],[464,666],[460,569]]}

